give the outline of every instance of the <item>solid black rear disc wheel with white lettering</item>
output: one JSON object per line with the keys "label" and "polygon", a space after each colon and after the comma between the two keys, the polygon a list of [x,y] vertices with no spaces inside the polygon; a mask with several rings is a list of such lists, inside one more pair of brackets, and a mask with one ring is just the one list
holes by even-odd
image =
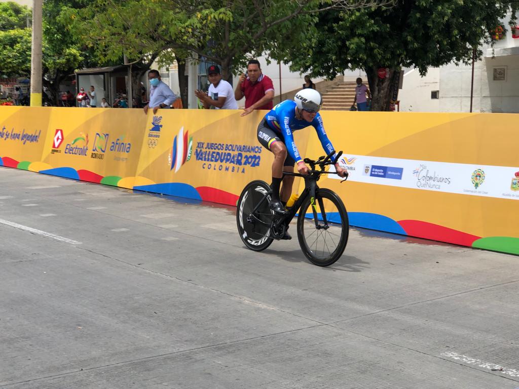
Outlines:
{"label": "solid black rear disc wheel with white lettering", "polygon": [[[272,223],[272,211],[268,206],[270,185],[262,180],[250,182],[241,192],[236,204],[236,222],[240,238],[254,251],[263,251],[270,246],[270,224]],[[254,214],[252,211],[260,203]]]}

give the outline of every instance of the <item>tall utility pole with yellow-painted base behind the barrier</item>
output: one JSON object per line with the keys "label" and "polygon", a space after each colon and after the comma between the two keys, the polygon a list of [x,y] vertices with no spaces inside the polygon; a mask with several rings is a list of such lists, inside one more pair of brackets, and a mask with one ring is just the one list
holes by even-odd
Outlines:
{"label": "tall utility pole with yellow-painted base behind the barrier", "polygon": [[33,0],[31,46],[31,107],[42,106],[42,9],[43,0]]}

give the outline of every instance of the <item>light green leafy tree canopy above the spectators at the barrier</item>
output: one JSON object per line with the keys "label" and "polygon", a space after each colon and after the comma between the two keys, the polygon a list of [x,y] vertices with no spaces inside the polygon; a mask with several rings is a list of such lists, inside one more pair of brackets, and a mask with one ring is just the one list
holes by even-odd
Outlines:
{"label": "light green leafy tree canopy above the spectators at the barrier", "polygon": [[[98,55],[106,60],[122,53],[135,61],[156,55],[159,64],[203,59],[221,66],[224,79],[243,69],[273,41],[296,45],[323,8],[365,7],[394,0],[95,0],[71,14]],[[153,54],[150,54],[153,53]],[[195,58],[192,58],[195,53]],[[179,72],[180,74],[180,72]],[[182,84],[182,82],[181,82]],[[182,89],[182,87],[181,87]],[[185,96],[184,96],[185,97]]]}

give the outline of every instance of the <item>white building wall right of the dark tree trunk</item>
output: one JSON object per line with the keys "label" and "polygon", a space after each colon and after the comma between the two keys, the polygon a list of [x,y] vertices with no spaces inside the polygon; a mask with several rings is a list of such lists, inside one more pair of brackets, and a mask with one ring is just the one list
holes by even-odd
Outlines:
{"label": "white building wall right of the dark tree trunk", "polygon": [[[483,48],[474,63],[472,112],[519,113],[519,30]],[[519,26],[519,22],[516,23]],[[514,37],[515,36],[515,37]],[[425,77],[407,71],[399,93],[403,112],[470,112],[472,66],[448,64],[430,68]]]}

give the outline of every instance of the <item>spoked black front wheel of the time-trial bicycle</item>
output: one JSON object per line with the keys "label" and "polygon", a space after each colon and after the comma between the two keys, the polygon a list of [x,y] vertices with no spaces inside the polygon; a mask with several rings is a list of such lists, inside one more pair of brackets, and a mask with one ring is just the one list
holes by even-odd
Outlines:
{"label": "spoked black front wheel of the time-trial bicycle", "polygon": [[315,199],[305,199],[297,218],[297,238],[310,262],[332,265],[343,255],[348,233],[348,213],[335,192],[318,189]]}

